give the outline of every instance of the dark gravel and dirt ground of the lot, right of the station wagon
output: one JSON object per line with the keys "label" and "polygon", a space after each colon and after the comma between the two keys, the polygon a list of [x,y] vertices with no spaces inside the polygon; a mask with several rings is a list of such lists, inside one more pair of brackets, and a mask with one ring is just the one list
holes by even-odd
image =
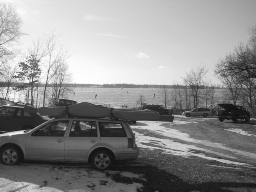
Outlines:
{"label": "dark gravel and dirt ground of the lot, right of the station wagon", "polygon": [[[190,123],[178,123],[186,121]],[[194,144],[204,150],[192,150],[193,153],[208,158],[188,158],[164,150],[140,148],[140,156],[133,162],[137,166],[114,169],[145,174],[147,182],[143,184],[143,192],[256,192],[256,121],[233,123],[231,120],[220,122],[216,118],[175,116],[173,124],[170,131],[179,130],[199,142],[170,139]],[[163,126],[170,127],[170,124]],[[145,134],[144,129],[139,129],[140,122],[132,128]],[[158,137],[149,132],[152,140]]]}

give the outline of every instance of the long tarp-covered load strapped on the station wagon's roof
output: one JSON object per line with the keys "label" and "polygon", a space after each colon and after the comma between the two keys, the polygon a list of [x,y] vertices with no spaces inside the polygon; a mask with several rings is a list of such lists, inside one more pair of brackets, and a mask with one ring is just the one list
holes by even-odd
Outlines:
{"label": "long tarp-covered load strapped on the station wagon's roof", "polygon": [[40,115],[47,116],[76,116],[76,117],[106,117],[121,120],[158,120],[160,114],[153,110],[131,110],[120,108],[108,108],[89,102],[82,102],[68,107],[40,107],[37,109]]}

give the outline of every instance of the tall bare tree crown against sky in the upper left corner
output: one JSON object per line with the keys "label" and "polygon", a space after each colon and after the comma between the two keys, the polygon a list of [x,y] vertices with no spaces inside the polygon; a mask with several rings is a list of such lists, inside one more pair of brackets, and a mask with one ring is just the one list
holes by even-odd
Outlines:
{"label": "tall bare tree crown against sky in the upper left corner", "polygon": [[14,58],[20,36],[24,35],[20,28],[22,20],[16,7],[7,2],[0,2],[0,67]]}

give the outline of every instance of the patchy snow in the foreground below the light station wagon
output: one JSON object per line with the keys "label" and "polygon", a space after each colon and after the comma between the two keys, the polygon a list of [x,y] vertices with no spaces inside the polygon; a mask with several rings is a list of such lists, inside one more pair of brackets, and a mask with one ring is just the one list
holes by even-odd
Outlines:
{"label": "patchy snow in the foreground below the light station wagon", "polygon": [[[124,184],[111,179],[119,173],[123,177],[144,180],[142,174],[130,172],[100,172],[84,167],[41,166],[40,164],[6,166],[0,164],[0,191],[29,192],[136,192],[140,183]],[[25,188],[27,190],[25,190]]]}

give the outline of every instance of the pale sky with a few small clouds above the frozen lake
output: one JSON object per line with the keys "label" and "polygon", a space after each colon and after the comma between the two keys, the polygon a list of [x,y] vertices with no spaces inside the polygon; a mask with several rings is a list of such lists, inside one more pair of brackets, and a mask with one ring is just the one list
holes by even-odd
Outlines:
{"label": "pale sky with a few small clouds above the frozen lake", "polygon": [[74,54],[73,83],[182,84],[186,72],[214,68],[249,39],[255,0],[9,0],[28,35],[25,46],[54,30]]}

